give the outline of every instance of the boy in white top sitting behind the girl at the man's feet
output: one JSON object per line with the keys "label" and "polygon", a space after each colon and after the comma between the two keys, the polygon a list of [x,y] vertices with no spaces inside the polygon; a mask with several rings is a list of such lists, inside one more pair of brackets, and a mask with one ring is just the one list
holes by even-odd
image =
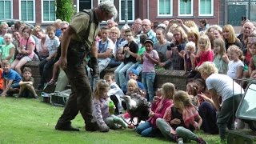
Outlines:
{"label": "boy in white top sitting behind the girl at the man's feet", "polygon": [[114,74],[113,73],[107,73],[104,75],[104,79],[106,82],[110,85],[110,90],[107,92],[107,95],[110,96],[110,99],[114,102],[114,106],[116,109],[114,110],[114,114],[118,115],[122,113],[122,100],[120,99],[123,94],[120,87],[114,82]]}

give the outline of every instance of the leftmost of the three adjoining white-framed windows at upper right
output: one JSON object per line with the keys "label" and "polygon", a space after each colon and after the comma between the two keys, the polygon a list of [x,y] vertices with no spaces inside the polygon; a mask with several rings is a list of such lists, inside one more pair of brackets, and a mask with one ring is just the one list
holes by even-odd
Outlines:
{"label": "leftmost of the three adjoining white-framed windows at upper right", "polygon": [[173,15],[173,0],[158,0],[158,15],[172,16]]}

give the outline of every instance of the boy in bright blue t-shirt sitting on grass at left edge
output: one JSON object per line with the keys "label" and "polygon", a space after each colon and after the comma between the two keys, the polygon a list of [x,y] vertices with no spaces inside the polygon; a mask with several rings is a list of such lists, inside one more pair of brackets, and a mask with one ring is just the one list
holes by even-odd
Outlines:
{"label": "boy in bright blue t-shirt sitting on grass at left edge", "polygon": [[3,73],[2,77],[5,79],[4,84],[7,84],[5,89],[3,90],[1,96],[5,97],[7,92],[18,90],[19,84],[22,77],[15,71],[10,69],[10,62],[4,60],[2,61]]}

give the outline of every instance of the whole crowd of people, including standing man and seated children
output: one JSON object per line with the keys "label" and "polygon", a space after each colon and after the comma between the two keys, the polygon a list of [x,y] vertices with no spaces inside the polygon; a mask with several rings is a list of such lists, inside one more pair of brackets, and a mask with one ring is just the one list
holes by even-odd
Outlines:
{"label": "whole crowd of people, including standing man and seated children", "polygon": [[[198,25],[171,19],[153,28],[149,19],[137,18],[131,26],[119,29],[111,19],[116,16],[113,4],[102,2],[75,14],[70,23],[58,19],[46,30],[40,26],[30,30],[22,22],[9,30],[2,23],[1,96],[17,93],[18,98],[38,98],[30,68],[22,70],[35,60],[40,61],[41,76],[36,90],[67,80],[72,87],[56,130],[78,130],[70,122],[78,111],[87,131],[132,127],[119,117],[123,113],[127,117],[122,96],[138,92],[151,102],[149,119],[136,128],[143,137],[162,134],[174,142],[206,143],[194,134],[203,130],[220,134],[225,142],[226,127],[241,128],[234,116],[246,87],[240,79],[256,78],[256,32],[250,20],[242,22],[237,37],[233,26],[210,25],[206,19]],[[106,26],[99,28],[98,22],[106,20]],[[101,75],[106,67],[116,69]],[[168,82],[155,94],[156,70],[185,70],[186,92]],[[114,114],[109,111],[110,101]]]}

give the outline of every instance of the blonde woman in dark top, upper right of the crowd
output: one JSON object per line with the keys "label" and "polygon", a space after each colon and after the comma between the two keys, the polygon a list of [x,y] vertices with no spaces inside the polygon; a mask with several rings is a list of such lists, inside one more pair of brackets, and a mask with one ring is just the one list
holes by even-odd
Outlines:
{"label": "blonde woman in dark top, upper right of the crowd", "polygon": [[222,27],[222,37],[226,44],[226,50],[231,46],[238,46],[242,50],[242,43],[234,34],[234,28],[231,25],[225,25]]}

